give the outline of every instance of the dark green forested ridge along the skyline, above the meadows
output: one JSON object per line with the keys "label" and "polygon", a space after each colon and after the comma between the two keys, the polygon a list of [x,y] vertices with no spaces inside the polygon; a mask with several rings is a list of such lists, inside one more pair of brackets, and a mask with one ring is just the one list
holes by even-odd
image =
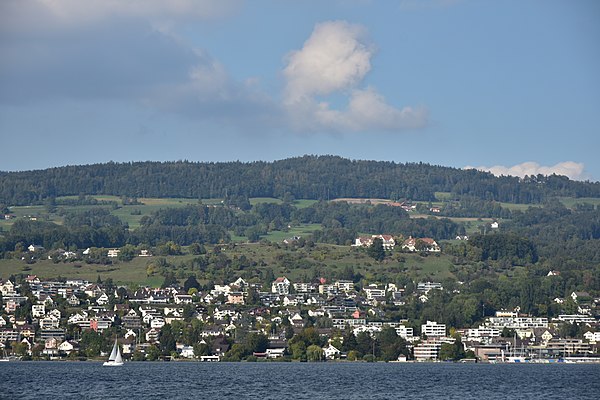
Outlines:
{"label": "dark green forested ridge along the skyline, above the meadows", "polygon": [[564,176],[519,179],[423,163],[304,156],[274,162],[133,162],[1,172],[0,203],[29,205],[67,195],[226,196],[434,200],[451,192],[486,200],[540,203],[552,196],[600,197],[600,182]]}

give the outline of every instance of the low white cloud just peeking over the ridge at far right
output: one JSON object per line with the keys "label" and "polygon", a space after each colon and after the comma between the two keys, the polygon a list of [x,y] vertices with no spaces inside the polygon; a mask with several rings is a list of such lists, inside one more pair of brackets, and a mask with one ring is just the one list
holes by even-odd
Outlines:
{"label": "low white cloud just peeking over the ridge at far right", "polygon": [[503,165],[494,165],[493,167],[465,167],[465,169],[477,169],[480,171],[491,172],[496,176],[511,175],[520,178],[526,175],[564,175],[573,180],[586,179],[584,172],[585,166],[582,163],[574,161],[565,161],[552,166],[543,166],[536,162],[529,161],[522,164],[506,167]]}

